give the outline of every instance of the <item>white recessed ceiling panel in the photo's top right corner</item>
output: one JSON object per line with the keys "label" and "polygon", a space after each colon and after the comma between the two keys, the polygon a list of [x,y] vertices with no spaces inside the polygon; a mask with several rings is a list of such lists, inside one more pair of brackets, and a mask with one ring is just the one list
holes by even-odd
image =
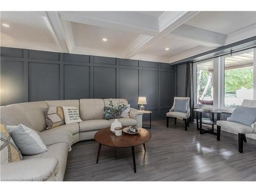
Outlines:
{"label": "white recessed ceiling panel in the photo's top right corner", "polygon": [[229,35],[256,25],[255,11],[201,11],[186,25]]}

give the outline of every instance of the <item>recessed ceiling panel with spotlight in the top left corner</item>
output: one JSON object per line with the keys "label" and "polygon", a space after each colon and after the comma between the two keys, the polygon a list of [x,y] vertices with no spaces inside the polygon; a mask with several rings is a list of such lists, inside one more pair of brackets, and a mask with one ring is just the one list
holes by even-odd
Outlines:
{"label": "recessed ceiling panel with spotlight in the top left corner", "polygon": [[1,12],[1,38],[43,44],[56,44],[45,12]]}

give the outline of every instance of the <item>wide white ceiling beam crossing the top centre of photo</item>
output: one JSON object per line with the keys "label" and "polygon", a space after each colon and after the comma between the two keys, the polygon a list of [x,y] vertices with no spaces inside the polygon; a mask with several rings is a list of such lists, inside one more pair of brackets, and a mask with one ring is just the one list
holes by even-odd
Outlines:
{"label": "wide white ceiling beam crossing the top centre of photo", "polygon": [[131,11],[60,11],[62,20],[145,35],[159,32],[158,19]]}

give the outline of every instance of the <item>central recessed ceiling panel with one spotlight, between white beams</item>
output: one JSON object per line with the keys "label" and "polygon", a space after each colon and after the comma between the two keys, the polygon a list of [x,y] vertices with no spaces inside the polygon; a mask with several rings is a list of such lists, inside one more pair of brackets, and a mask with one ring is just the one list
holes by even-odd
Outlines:
{"label": "central recessed ceiling panel with one spotlight, between white beams", "polygon": [[[74,44],[76,47],[101,49],[109,51],[124,51],[139,34],[115,29],[95,27],[72,22]],[[107,41],[103,41],[106,38]]]}

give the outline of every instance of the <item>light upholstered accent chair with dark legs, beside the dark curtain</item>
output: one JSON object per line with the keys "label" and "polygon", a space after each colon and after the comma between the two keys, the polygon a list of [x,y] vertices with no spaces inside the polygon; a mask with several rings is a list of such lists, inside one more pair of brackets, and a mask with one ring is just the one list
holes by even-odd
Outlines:
{"label": "light upholstered accent chair with dark legs, beside the dark curtain", "polygon": [[[188,100],[188,104],[187,104],[187,112],[186,113],[182,113],[182,112],[175,112],[175,101],[177,99],[186,99]],[[170,111],[168,113],[166,113],[166,126],[169,127],[169,118],[174,118],[174,123],[176,124],[176,119],[182,119],[185,122],[185,131],[187,131],[187,126],[189,126],[188,123],[188,118],[190,116],[190,108],[189,108],[189,97],[174,97],[174,104],[172,106],[172,109],[170,109]]]}

